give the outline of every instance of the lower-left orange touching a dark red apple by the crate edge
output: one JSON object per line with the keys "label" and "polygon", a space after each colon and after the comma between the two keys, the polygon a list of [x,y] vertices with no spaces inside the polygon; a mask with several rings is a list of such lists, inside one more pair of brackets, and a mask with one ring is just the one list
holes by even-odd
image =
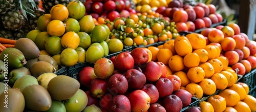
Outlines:
{"label": "lower-left orange touching a dark red apple by the crate edge", "polygon": [[192,97],[196,97],[198,99],[201,99],[204,94],[202,87],[196,83],[187,84],[185,90],[192,94]]}

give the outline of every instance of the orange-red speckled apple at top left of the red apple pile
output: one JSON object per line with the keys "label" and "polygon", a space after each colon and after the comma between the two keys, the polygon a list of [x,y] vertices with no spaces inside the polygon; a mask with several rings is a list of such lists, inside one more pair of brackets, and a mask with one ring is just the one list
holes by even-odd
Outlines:
{"label": "orange-red speckled apple at top left of the red apple pile", "polygon": [[100,58],[95,62],[93,69],[98,78],[106,79],[113,74],[114,64],[108,58]]}

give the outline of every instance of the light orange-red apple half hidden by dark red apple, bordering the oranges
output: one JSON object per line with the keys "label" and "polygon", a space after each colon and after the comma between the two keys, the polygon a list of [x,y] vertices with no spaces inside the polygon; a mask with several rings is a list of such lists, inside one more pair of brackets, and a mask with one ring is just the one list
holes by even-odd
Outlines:
{"label": "light orange-red apple half hidden by dark red apple, bordering the oranges", "polygon": [[181,79],[177,75],[168,75],[166,76],[170,81],[173,82],[174,85],[174,92],[180,89],[181,86]]}

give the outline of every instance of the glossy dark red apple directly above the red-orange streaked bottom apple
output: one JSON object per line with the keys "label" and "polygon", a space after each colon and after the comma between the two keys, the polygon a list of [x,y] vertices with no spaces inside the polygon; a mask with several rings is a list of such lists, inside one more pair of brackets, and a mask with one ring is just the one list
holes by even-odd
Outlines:
{"label": "glossy dark red apple directly above the red-orange streaked bottom apple", "polygon": [[125,78],[128,81],[128,88],[132,90],[140,89],[146,83],[146,76],[136,69],[128,70]]}

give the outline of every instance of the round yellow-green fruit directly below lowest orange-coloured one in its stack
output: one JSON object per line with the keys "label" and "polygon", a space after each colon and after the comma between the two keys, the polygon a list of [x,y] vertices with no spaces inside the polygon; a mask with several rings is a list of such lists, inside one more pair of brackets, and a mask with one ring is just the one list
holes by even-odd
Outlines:
{"label": "round yellow-green fruit directly below lowest orange-coloured one in its stack", "polygon": [[73,66],[78,61],[78,54],[72,48],[66,48],[60,54],[60,63],[65,66]]}

